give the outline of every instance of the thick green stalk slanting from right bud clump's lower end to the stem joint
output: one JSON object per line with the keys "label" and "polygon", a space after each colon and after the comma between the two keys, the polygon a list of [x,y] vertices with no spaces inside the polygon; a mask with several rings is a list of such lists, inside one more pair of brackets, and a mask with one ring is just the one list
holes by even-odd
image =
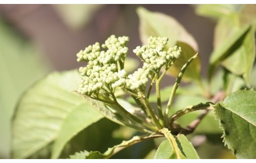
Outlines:
{"label": "thick green stalk slanting from right bud clump's lower end to the stem joint", "polygon": [[140,92],[140,93],[141,93],[140,100],[144,104],[147,114],[150,115],[150,117],[152,118],[152,120],[153,120],[155,126],[157,127],[157,129],[158,130],[162,129],[163,126],[159,123],[158,119],[156,118],[155,113],[153,112],[153,109],[149,105],[149,102],[146,99],[145,95],[143,94],[143,92]]}

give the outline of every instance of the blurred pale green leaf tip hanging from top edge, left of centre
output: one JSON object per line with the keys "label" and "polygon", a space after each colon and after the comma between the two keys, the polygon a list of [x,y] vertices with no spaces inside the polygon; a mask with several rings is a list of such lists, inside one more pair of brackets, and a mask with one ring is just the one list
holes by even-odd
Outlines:
{"label": "blurred pale green leaf tip hanging from top edge, left of centre", "polygon": [[52,4],[66,25],[72,29],[85,26],[103,4]]}

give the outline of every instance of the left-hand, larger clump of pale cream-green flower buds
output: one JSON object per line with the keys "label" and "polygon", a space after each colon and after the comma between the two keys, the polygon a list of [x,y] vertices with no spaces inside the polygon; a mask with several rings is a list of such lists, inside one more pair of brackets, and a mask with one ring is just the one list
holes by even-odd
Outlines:
{"label": "left-hand, larger clump of pale cream-green flower buds", "polygon": [[118,71],[118,64],[123,67],[125,56],[128,53],[126,43],[128,37],[118,37],[111,35],[102,45],[107,51],[101,51],[99,43],[90,45],[84,51],[80,51],[77,61],[86,61],[86,67],[80,67],[79,72],[82,80],[79,82],[78,92],[90,95],[98,92],[104,85],[108,88],[115,88],[125,83],[126,72],[122,69]]}

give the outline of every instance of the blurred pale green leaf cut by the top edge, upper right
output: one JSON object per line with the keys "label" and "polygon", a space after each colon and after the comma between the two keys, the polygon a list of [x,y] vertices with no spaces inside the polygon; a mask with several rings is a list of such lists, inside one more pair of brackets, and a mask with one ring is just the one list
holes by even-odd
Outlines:
{"label": "blurred pale green leaf cut by the top edge, upper right", "polygon": [[234,13],[239,4],[199,4],[196,13],[210,18],[220,18]]}

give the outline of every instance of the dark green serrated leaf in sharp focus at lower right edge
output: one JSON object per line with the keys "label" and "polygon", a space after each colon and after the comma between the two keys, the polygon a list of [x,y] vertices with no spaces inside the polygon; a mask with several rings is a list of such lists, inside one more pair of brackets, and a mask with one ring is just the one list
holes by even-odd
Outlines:
{"label": "dark green serrated leaf in sharp focus at lower right edge", "polygon": [[224,143],[238,159],[256,159],[256,91],[239,90],[215,106]]}

